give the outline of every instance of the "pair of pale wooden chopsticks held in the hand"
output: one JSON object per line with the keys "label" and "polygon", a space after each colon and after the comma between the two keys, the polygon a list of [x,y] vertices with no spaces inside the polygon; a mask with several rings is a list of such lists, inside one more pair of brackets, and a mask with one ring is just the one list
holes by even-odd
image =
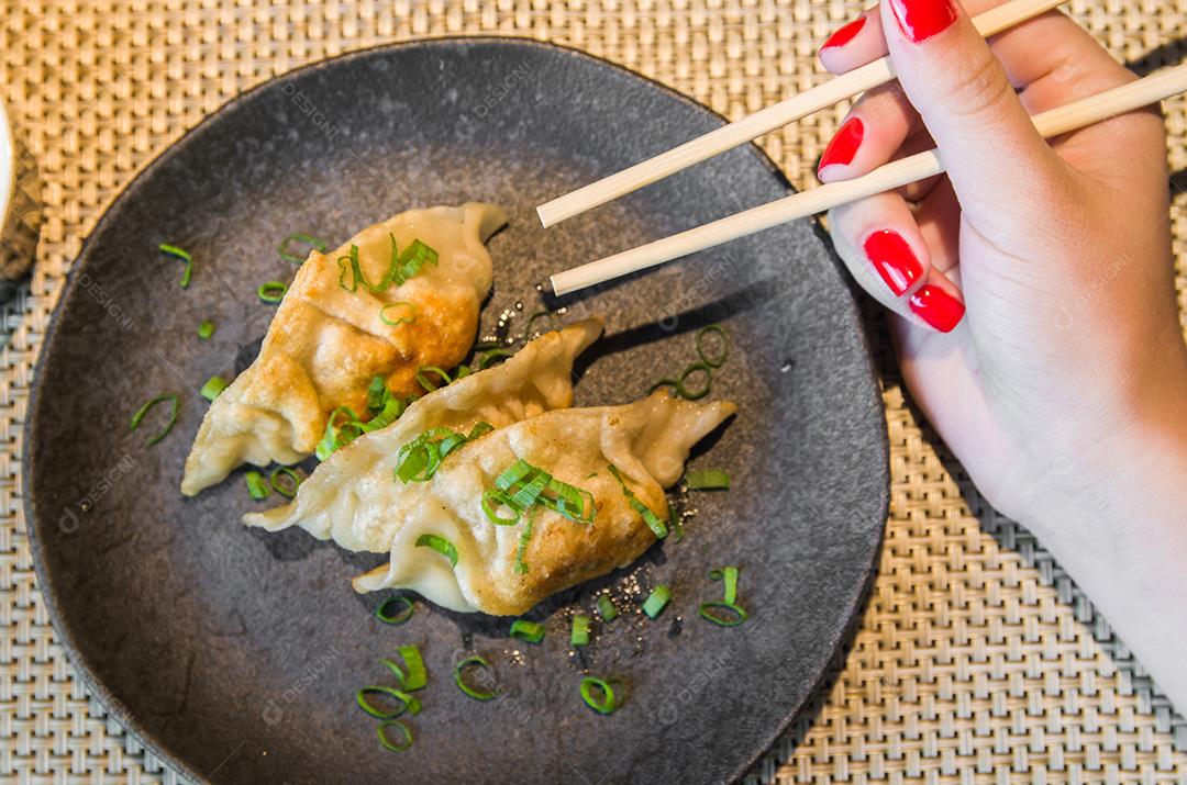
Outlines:
{"label": "pair of pale wooden chopsticks held in the hand", "polygon": [[[1050,11],[1058,5],[1059,0],[1011,0],[979,14],[973,19],[973,24],[980,33],[991,36]],[[857,92],[884,84],[894,76],[890,59],[884,57],[834,77],[737,122],[723,126],[655,158],[542,204],[537,208],[540,222],[545,226],[551,226],[565,218],[571,218],[726,149],[751,141],[813,111],[852,97]],[[1136,82],[1035,115],[1033,120],[1039,133],[1049,139],[1157,103],[1180,92],[1187,92],[1187,65],[1164,69]],[[887,164],[869,174],[802,191],[703,226],[558,273],[552,276],[552,288],[557,294],[576,292],[770,226],[942,174],[945,168],[939,151],[918,153]]]}

